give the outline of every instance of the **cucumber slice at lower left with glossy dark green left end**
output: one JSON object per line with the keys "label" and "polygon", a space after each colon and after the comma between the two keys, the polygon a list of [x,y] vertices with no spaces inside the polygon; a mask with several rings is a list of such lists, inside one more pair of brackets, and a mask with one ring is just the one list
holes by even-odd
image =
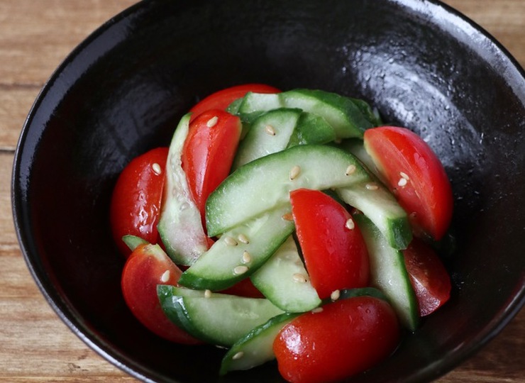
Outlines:
{"label": "cucumber slice at lower left with glossy dark green left end", "polygon": [[207,343],[231,347],[253,328],[283,313],[267,299],[215,293],[211,297],[177,296],[177,288],[157,287],[170,321]]}

